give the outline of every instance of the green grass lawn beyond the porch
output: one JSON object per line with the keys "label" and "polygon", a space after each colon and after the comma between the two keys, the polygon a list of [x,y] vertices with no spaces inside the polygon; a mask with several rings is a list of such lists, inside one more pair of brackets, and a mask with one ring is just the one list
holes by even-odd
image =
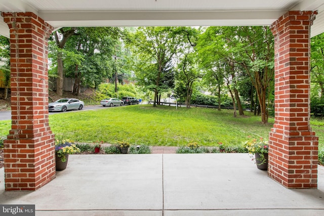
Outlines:
{"label": "green grass lawn beyond the porch", "polygon": [[[181,146],[197,142],[203,146],[239,146],[252,138],[268,139],[273,119],[263,125],[260,116],[245,114],[234,118],[232,110],[136,105],[54,114],[49,121],[57,137],[86,143],[126,140],[131,145]],[[10,126],[11,120],[0,121],[0,136],[6,136]],[[323,146],[324,126],[313,128]]]}

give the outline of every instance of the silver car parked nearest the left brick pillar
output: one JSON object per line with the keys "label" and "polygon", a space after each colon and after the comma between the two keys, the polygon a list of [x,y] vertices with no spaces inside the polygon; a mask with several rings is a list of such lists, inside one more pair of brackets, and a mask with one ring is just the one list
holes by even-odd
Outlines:
{"label": "silver car parked nearest the left brick pillar", "polygon": [[49,111],[62,111],[83,109],[85,103],[74,98],[62,98],[49,104]]}

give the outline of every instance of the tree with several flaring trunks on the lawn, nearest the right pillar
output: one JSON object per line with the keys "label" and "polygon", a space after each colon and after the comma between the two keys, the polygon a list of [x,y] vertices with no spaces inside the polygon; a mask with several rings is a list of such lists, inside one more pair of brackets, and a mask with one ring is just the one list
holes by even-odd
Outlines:
{"label": "tree with several flaring trunks on the lawn, nearest the right pillar", "polygon": [[274,40],[266,26],[226,27],[223,38],[233,53],[233,61],[242,66],[254,85],[262,123],[268,122],[267,95],[274,79]]}

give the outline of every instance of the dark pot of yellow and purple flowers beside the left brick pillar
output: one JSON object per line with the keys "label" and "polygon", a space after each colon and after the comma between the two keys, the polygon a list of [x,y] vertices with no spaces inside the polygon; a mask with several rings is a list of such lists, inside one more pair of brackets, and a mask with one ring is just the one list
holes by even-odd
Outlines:
{"label": "dark pot of yellow and purple flowers beside the left brick pillar", "polygon": [[79,153],[80,149],[77,148],[73,141],[70,140],[55,140],[55,162],[56,170],[64,170],[67,165],[69,154]]}

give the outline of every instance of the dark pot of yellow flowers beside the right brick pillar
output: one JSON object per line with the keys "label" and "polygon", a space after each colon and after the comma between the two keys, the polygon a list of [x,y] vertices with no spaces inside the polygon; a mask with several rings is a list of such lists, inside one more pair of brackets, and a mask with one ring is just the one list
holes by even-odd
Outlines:
{"label": "dark pot of yellow flowers beside the right brick pillar", "polygon": [[269,142],[263,138],[254,139],[245,143],[245,148],[251,154],[252,160],[257,164],[258,169],[268,169]]}

